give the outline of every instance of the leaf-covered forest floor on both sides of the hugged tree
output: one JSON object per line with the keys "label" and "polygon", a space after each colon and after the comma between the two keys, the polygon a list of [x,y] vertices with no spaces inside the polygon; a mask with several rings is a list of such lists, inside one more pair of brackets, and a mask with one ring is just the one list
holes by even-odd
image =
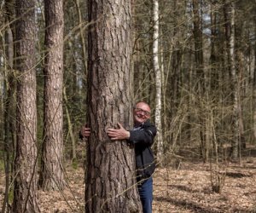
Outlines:
{"label": "leaf-covered forest floor on both sides of the hugged tree", "polygon": [[[172,167],[158,168],[154,173],[154,213],[256,212],[256,158],[221,167],[189,162]],[[62,193],[39,191],[43,213],[83,212],[84,170],[67,167],[66,175],[67,188]],[[0,206],[3,179],[1,172]],[[220,186],[221,193],[213,192],[212,186],[215,191]]]}

